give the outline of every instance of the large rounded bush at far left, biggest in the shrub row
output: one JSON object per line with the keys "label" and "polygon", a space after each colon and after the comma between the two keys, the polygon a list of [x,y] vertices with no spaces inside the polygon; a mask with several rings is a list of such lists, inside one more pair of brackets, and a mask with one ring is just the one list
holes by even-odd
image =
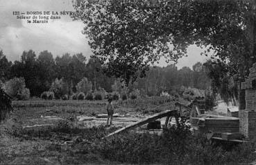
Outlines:
{"label": "large rounded bush at far left, biggest in the shrub row", "polygon": [[17,100],[27,100],[30,97],[29,89],[26,88],[24,78],[12,78],[5,85],[5,91],[12,98]]}

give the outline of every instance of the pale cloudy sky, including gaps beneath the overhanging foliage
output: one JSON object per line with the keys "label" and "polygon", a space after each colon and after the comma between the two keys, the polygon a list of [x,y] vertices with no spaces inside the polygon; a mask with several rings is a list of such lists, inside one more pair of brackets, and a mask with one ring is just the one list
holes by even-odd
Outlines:
{"label": "pale cloudy sky, including gaps beneath the overhanging foliage", "polygon": [[[48,50],[54,56],[64,53],[83,53],[89,58],[91,51],[81,33],[83,23],[72,21],[68,16],[51,20],[48,24],[28,24],[26,20],[17,19],[13,11],[62,11],[73,10],[71,0],[0,0],[0,49],[8,60],[19,60],[23,51],[33,49],[38,55]],[[178,60],[177,67],[191,67],[196,62],[205,62],[202,50],[190,46],[188,57]],[[164,60],[160,66],[166,66]]]}

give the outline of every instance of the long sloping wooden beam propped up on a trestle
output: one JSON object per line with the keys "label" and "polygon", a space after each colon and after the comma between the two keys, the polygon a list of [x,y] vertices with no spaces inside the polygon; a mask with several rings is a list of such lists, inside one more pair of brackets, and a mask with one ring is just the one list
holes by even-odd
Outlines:
{"label": "long sloping wooden beam propped up on a trestle", "polygon": [[123,131],[126,131],[126,130],[130,130],[130,129],[133,129],[133,128],[137,128],[141,125],[144,125],[146,123],[149,123],[151,121],[155,121],[156,119],[161,119],[162,117],[165,117],[165,116],[176,116],[177,115],[177,110],[166,110],[164,112],[160,112],[158,114],[155,114],[153,116],[150,116],[146,119],[143,119],[141,121],[137,121],[136,123],[133,123],[133,124],[130,124],[130,125],[127,125],[126,127],[123,127],[119,130],[116,130],[110,134],[108,134],[107,136],[103,137],[104,138],[107,138],[107,137],[111,137],[112,135],[114,134],[118,134],[120,132],[123,132]]}

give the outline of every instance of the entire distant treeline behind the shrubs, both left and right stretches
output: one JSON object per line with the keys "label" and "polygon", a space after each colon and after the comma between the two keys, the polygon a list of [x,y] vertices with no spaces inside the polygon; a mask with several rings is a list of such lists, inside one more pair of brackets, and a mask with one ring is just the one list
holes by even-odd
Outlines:
{"label": "entire distant treeline behind the shrubs, both left and right stretches", "polygon": [[[49,91],[56,78],[67,83],[69,92],[76,92],[76,85],[84,77],[92,83],[92,89],[103,88],[112,92],[112,85],[117,78],[105,76],[103,66],[97,58],[85,58],[82,53],[53,58],[49,51],[36,55],[34,51],[24,51],[20,60],[10,62],[0,51],[0,80],[6,83],[12,78],[24,78],[26,88],[31,96],[40,96]],[[210,79],[203,64],[197,62],[193,69],[183,67],[177,69],[174,64],[167,67],[151,67],[145,78],[138,78],[128,89],[139,89],[148,96],[160,95],[161,92],[171,92],[180,87],[195,87],[207,89]]]}

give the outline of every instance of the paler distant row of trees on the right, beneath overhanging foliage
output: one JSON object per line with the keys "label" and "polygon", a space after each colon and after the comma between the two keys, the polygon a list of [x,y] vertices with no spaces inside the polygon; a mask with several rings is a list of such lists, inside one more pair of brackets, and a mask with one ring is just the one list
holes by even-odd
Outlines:
{"label": "paler distant row of trees on the right, beneath overhanging foliage", "polygon": [[178,70],[174,64],[162,68],[154,67],[146,72],[146,77],[137,78],[131,88],[140,89],[148,96],[160,95],[162,92],[171,93],[178,91],[180,87],[207,89],[211,85],[207,73],[207,68],[200,62],[194,64],[192,70],[189,67]]}

